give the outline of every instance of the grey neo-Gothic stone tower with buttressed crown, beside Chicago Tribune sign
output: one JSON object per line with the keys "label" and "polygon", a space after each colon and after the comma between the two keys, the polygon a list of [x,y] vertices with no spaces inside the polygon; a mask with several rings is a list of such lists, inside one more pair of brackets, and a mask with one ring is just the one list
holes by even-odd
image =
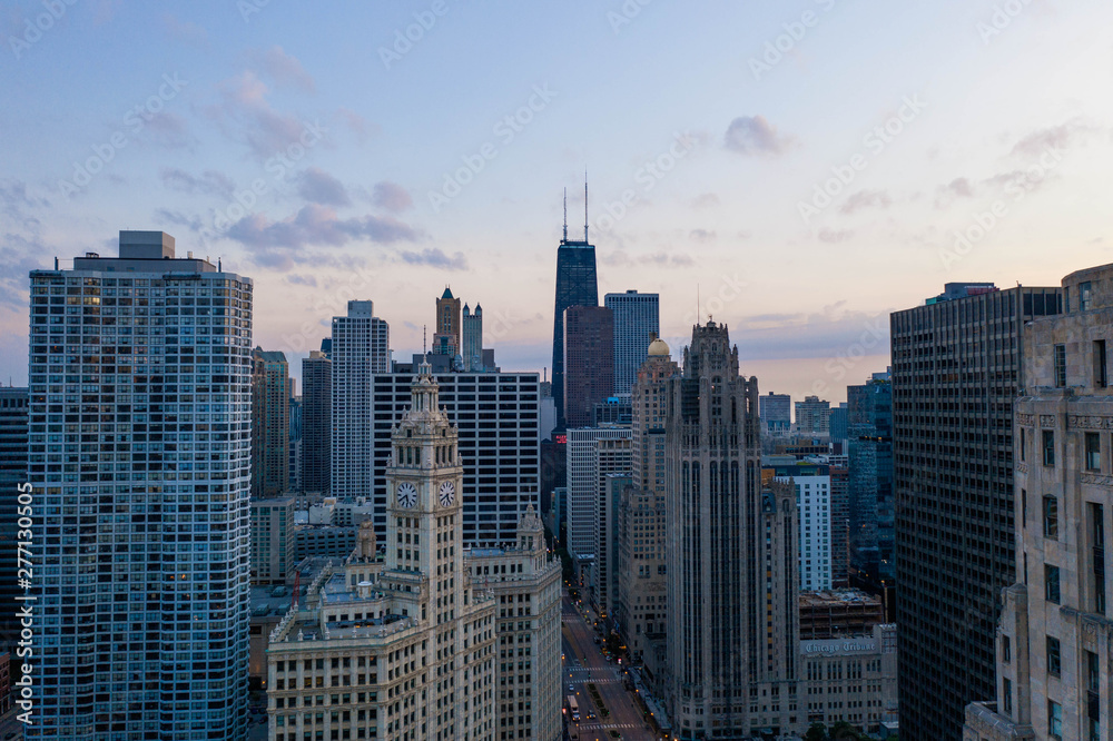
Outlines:
{"label": "grey neo-Gothic stone tower with buttressed crown, beside Chicago Tribune sign", "polygon": [[796,496],[760,477],[756,378],[726,326],[692,328],[666,413],[668,679],[680,739],[807,728]]}

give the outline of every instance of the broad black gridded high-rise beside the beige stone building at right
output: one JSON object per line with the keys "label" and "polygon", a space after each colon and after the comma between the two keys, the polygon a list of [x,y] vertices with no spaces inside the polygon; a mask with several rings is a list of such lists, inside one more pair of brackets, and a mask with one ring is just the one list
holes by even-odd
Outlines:
{"label": "broad black gridded high-rise beside the beige stone building at right", "polygon": [[966,704],[995,695],[998,596],[1016,581],[1022,328],[1061,314],[1062,299],[1060,288],[948,285],[890,317],[903,740],[958,739]]}

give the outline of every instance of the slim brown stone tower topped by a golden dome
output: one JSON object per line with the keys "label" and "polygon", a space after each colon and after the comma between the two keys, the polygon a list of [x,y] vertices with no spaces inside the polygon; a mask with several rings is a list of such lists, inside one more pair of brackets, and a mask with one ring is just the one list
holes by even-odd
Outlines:
{"label": "slim brown stone tower topped by a golden dome", "polygon": [[619,600],[614,609],[630,658],[640,663],[664,636],[664,421],[668,381],[680,373],[663,339],[649,345],[632,389],[632,486],[619,503]]}

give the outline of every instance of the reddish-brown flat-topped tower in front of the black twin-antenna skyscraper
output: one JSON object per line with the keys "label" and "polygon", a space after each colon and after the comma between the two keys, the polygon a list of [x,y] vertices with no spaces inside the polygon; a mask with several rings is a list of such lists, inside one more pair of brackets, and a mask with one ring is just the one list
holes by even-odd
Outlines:
{"label": "reddish-brown flat-topped tower in front of the black twin-antenna skyscraper", "polygon": [[591,424],[595,404],[614,388],[614,316],[602,306],[564,312],[564,422]]}

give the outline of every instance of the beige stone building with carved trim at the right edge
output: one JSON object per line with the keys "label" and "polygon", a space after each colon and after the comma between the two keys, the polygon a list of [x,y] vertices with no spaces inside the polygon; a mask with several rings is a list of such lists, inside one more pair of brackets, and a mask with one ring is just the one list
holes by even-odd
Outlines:
{"label": "beige stone building with carved trim at the right edge", "polygon": [[1063,279],[1065,314],[1023,334],[1014,435],[1017,583],[1003,591],[996,698],[965,741],[1109,739],[1113,622],[1113,265]]}

